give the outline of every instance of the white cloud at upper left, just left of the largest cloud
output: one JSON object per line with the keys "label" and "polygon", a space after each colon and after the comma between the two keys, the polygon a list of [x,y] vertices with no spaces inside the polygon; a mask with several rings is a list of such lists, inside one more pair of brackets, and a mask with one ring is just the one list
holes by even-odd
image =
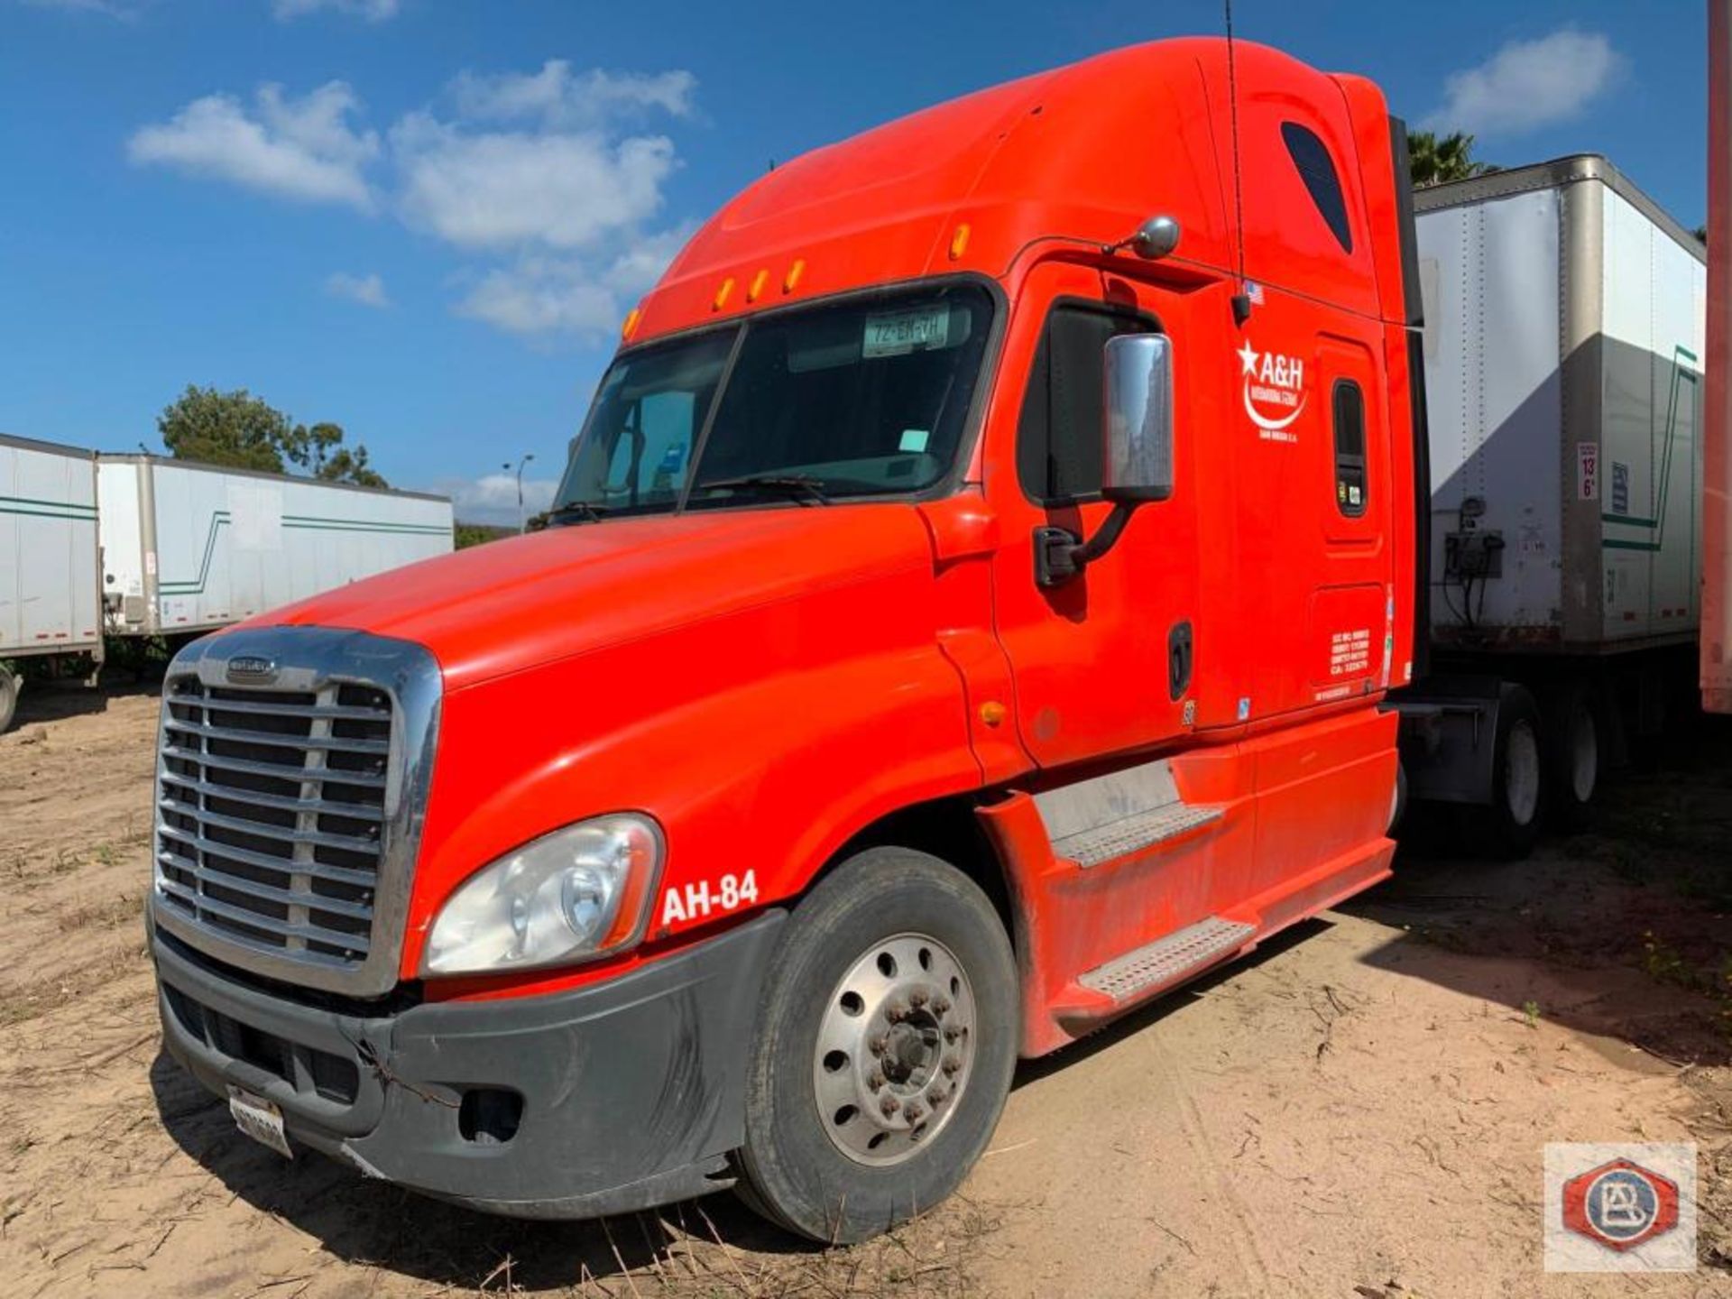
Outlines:
{"label": "white cloud at upper left, just left of the largest cloud", "polygon": [[362,168],[378,156],[379,137],[350,128],[348,116],[359,109],[360,100],[343,81],[301,99],[263,85],[256,113],[232,95],[206,95],[168,121],[135,132],[126,154],[140,166],[173,166],[301,203],[371,211],[374,199]]}

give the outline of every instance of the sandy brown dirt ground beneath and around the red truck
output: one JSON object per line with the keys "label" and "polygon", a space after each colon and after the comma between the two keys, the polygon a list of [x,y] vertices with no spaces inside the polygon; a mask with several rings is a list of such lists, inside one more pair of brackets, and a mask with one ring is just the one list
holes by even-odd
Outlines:
{"label": "sandy brown dirt ground beneath and around the red truck", "polygon": [[[1025,1065],[961,1197],[812,1251],[731,1197],[509,1223],[284,1164],[158,1050],[156,707],[0,736],[0,1294],[1732,1296],[1732,727],[1528,863],[1394,882]],[[1541,1273],[1541,1150],[1701,1147],[1701,1268]]]}

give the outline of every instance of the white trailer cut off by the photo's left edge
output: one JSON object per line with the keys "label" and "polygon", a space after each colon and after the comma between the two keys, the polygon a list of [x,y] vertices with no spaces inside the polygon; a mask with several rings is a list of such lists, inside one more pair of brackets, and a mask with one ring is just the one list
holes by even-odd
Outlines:
{"label": "white trailer cut off by the photo's left edge", "polygon": [[88,450],[0,435],[0,731],[23,660],[102,656],[95,473]]}

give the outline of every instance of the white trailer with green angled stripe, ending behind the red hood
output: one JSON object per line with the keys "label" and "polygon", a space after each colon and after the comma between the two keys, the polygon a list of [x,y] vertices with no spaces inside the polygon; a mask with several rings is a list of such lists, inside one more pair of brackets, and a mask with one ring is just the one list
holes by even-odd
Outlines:
{"label": "white trailer with green angled stripe, ending behind the red hood", "polygon": [[99,456],[111,636],[184,636],[452,549],[450,501]]}

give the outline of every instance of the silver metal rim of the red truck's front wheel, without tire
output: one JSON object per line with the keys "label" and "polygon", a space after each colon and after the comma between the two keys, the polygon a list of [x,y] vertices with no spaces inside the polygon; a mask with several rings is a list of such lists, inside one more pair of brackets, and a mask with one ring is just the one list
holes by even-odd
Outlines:
{"label": "silver metal rim of the red truck's front wheel, without tire", "polygon": [[973,1057],[973,989],[954,953],[925,934],[875,942],[831,989],[818,1025],[819,1124],[857,1164],[901,1164],[951,1121]]}

